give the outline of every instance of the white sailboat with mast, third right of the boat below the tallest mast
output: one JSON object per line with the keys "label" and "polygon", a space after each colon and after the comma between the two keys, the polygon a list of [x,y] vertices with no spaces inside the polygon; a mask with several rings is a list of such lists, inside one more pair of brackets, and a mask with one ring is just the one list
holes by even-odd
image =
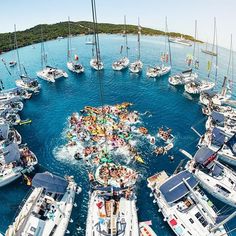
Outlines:
{"label": "white sailboat with mast, third right of the boat below the tallest mast", "polygon": [[[168,43],[168,51],[167,52],[167,43]],[[170,61],[170,65],[167,66],[166,64]],[[169,42],[169,35],[168,35],[168,26],[167,26],[167,17],[165,18],[165,52],[161,54],[161,66],[156,65],[154,67],[149,66],[147,69],[146,75],[149,78],[156,78],[161,77],[163,75],[168,74],[171,71],[171,51],[170,51],[170,42]]]}

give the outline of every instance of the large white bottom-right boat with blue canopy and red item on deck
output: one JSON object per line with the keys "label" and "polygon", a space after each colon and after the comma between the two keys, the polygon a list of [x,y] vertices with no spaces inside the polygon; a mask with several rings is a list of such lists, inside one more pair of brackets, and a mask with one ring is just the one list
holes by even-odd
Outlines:
{"label": "large white bottom-right boat with blue canopy and red item on deck", "polygon": [[159,212],[176,235],[227,235],[224,226],[217,225],[214,205],[193,174],[184,170],[168,176],[161,171],[147,181]]}

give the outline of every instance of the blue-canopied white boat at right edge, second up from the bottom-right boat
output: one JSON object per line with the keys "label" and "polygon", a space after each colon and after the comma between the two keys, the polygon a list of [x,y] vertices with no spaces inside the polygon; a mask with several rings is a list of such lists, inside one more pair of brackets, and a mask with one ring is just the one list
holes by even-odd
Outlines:
{"label": "blue-canopied white boat at right edge, second up from the bottom-right boat", "polygon": [[207,130],[200,138],[198,146],[208,147],[212,151],[217,152],[219,159],[230,165],[236,166],[236,152],[231,148],[235,143],[235,134],[230,136],[219,128],[214,127],[212,130]]}

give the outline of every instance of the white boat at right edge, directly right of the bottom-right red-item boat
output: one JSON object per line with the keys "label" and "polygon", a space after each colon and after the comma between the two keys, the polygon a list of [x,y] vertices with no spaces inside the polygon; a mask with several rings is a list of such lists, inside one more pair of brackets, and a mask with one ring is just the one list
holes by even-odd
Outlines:
{"label": "white boat at right edge, directly right of the bottom-right red-item boat", "polygon": [[233,170],[217,161],[217,152],[201,147],[192,157],[181,150],[191,160],[186,169],[200,182],[201,186],[220,201],[236,207],[236,175]]}

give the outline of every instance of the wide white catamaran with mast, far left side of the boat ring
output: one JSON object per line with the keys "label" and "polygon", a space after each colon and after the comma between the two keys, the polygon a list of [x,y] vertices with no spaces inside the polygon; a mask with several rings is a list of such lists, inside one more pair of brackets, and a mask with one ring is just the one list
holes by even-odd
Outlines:
{"label": "wide white catamaran with mast, far left side of the boat ring", "polygon": [[46,80],[48,82],[55,83],[56,79],[61,77],[68,77],[68,74],[56,67],[47,65],[47,54],[45,53],[44,40],[43,40],[43,31],[41,28],[41,67],[42,70],[38,71],[36,74],[40,79]]}

